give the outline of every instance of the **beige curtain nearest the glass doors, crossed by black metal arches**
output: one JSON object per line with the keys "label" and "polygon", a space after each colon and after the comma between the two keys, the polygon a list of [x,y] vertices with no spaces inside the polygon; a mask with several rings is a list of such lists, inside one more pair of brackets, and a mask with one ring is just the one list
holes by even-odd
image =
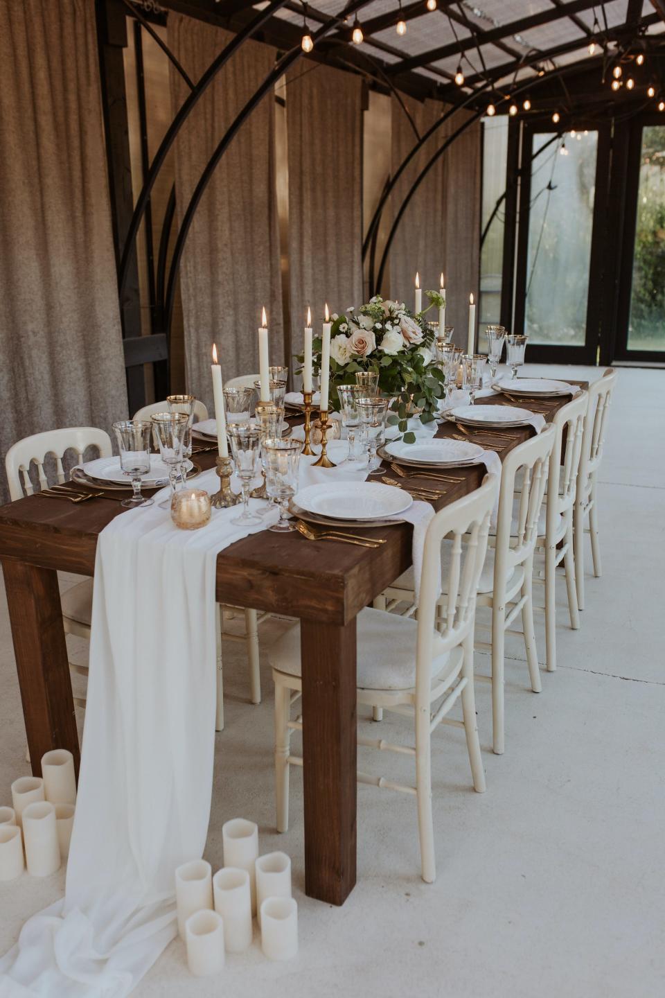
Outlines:
{"label": "beige curtain nearest the glass doors, crossed by black metal arches", "polygon": [[[416,128],[423,135],[448,107],[438,101],[419,103],[404,96]],[[391,197],[393,216],[413,182],[444,142],[471,117],[459,111],[445,122],[414,157]],[[392,98],[392,167],[395,171],[413,149],[416,135],[404,110]],[[481,126],[471,125],[430,170],[412,198],[390,251],[390,294],[414,303],[414,278],[421,287],[438,289],[446,278],[446,322],[455,326],[455,341],[467,343],[469,294],[478,301],[481,226]],[[427,296],[423,294],[423,306]],[[435,311],[432,311],[433,317]]]}

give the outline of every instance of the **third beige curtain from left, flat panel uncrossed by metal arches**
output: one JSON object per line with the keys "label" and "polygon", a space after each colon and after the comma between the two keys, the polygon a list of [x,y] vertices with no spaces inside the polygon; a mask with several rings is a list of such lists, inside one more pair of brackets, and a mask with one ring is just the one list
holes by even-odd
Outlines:
{"label": "third beige curtain from left, flat panel uncrossed by metal arches", "polygon": [[287,76],[289,283],[292,353],[307,306],[315,333],[363,300],[362,82],[301,61]]}

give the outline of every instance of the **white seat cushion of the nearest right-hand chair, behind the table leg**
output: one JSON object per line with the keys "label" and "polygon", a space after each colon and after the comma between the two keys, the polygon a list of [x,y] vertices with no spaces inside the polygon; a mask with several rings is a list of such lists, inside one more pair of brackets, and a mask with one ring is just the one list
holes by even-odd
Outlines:
{"label": "white seat cushion of the nearest right-hand chair, behind the table leg", "polygon": [[[416,621],[383,610],[358,614],[358,688],[411,690],[416,684]],[[432,678],[446,667],[449,652],[439,652],[443,639],[435,634]],[[300,676],[300,625],[289,628],[268,652],[273,669]]]}

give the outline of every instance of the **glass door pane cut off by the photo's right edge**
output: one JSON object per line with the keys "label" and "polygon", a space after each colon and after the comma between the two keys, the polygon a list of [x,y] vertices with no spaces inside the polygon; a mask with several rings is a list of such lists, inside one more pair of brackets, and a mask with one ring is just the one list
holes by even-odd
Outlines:
{"label": "glass door pane cut off by the photo's right edge", "polygon": [[642,131],[629,350],[665,350],[665,126]]}

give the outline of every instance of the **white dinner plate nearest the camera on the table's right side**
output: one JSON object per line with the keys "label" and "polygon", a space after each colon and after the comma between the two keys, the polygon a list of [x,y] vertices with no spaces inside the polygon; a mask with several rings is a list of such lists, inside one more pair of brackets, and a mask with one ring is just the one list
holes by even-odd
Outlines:
{"label": "white dinner plate nearest the camera on the table's right side", "polygon": [[293,497],[296,506],[335,520],[376,520],[403,513],[413,503],[404,489],[379,482],[310,485]]}

